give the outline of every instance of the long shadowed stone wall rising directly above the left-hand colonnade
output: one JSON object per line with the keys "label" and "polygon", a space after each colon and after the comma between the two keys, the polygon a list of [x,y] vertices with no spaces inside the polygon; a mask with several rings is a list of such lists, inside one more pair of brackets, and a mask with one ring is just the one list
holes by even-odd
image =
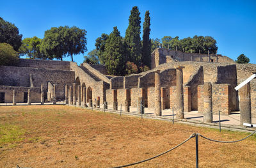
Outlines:
{"label": "long shadowed stone wall rising directly above the left-hand colonnade", "polygon": [[65,98],[65,84],[72,84],[75,73],[65,70],[51,70],[45,68],[30,68],[17,66],[0,66],[0,85],[1,86],[24,86],[29,87],[29,74],[32,74],[33,85],[40,87],[44,84],[45,94],[47,83],[56,85],[57,99]]}

